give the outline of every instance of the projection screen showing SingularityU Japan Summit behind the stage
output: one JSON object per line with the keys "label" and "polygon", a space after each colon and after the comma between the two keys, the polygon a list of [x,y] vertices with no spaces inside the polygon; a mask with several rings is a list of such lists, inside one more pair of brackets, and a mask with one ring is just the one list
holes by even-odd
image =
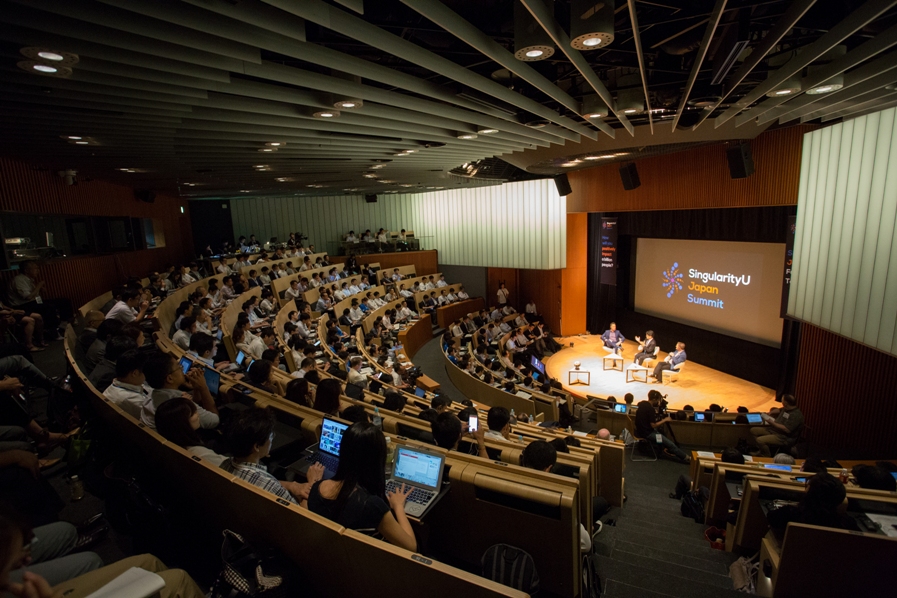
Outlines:
{"label": "projection screen showing SingularityU Japan Summit behind the stage", "polygon": [[784,243],[643,238],[636,256],[637,312],[771,347],[781,344]]}

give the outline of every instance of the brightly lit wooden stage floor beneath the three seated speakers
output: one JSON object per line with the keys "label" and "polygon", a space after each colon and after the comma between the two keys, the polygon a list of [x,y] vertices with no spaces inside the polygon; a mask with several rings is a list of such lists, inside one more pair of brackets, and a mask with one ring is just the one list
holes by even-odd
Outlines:
{"label": "brightly lit wooden stage floor beneath the three seated speakers", "polygon": [[[631,392],[635,395],[635,402],[646,399],[648,391],[659,390],[668,395],[667,401],[673,409],[680,409],[685,405],[691,405],[696,410],[707,409],[711,403],[722,407],[728,407],[734,412],[739,406],[745,406],[752,412],[768,411],[772,407],[780,406],[775,402],[775,391],[759,384],[730,376],[718,370],[702,366],[693,361],[687,361],[679,379],[667,384],[654,383],[653,378],[648,378],[650,384],[642,381],[626,382],[626,369],[632,365],[632,358],[638,352],[638,343],[627,340],[623,344],[623,371],[604,369],[604,356],[609,355],[604,349],[604,343],[600,336],[568,336],[558,338],[564,348],[551,357],[545,358],[545,366],[548,375],[564,385],[564,388],[577,396],[585,398],[591,395],[598,398],[614,396],[620,403],[623,395]],[[573,343],[573,346],[570,346]],[[686,349],[688,353],[688,349]],[[667,354],[663,351],[658,355],[663,360]],[[580,371],[591,373],[591,384],[568,384],[567,372],[573,369],[573,362],[581,362]],[[650,366],[653,373],[654,362]],[[609,365],[609,364],[608,364]],[[617,366],[619,367],[619,366]],[[644,374],[641,375],[644,377]]]}

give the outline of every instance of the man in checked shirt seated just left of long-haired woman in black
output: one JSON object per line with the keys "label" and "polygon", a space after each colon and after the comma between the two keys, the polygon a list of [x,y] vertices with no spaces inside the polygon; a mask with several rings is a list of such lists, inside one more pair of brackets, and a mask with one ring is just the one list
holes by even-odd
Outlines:
{"label": "man in checked shirt seated just left of long-haired woman in black", "polygon": [[268,473],[268,468],[259,461],[271,452],[275,423],[277,419],[270,407],[243,411],[228,428],[228,446],[233,457],[222,463],[221,469],[278,498],[293,504],[304,504],[311,487],[324,477],[324,466],[320,463],[312,465],[306,474],[308,481],[305,484],[281,482]]}

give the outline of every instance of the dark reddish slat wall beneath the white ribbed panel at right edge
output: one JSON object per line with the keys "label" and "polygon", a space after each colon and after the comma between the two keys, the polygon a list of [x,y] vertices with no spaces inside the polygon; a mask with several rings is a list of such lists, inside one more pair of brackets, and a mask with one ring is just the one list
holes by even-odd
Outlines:
{"label": "dark reddish slat wall beneath the white ribbed panel at right edge", "polygon": [[813,444],[844,458],[897,455],[897,358],[804,324],[794,396]]}

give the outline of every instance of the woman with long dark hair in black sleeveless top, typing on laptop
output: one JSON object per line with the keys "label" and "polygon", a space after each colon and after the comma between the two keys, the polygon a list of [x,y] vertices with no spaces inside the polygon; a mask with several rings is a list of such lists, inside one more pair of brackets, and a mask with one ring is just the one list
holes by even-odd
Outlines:
{"label": "woman with long dark hair in black sleeveless top, typing on laptop", "polygon": [[308,495],[308,510],[345,527],[377,531],[387,542],[417,550],[414,530],[405,515],[411,491],[386,494],[386,439],[369,422],[352,424],[343,434],[339,466],[332,480],[315,483]]}

